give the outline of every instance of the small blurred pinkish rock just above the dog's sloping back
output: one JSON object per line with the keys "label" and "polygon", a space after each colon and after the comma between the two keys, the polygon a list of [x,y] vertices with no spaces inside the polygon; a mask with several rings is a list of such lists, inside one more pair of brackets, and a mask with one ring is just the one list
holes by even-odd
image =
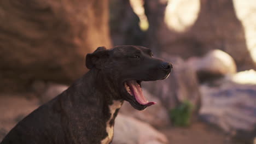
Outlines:
{"label": "small blurred pinkish rock just above the dog's sloping back", "polygon": [[44,104],[47,101],[55,98],[57,95],[62,93],[68,88],[66,85],[48,83],[48,86],[45,88],[45,91],[40,95],[40,104]]}

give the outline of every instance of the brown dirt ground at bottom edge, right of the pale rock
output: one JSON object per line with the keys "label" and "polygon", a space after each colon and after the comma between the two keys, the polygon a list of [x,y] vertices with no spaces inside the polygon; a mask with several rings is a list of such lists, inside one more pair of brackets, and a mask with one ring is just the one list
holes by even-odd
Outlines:
{"label": "brown dirt ground at bottom edge, right of the pale rock", "polygon": [[243,144],[232,141],[220,129],[203,122],[195,122],[190,127],[166,127],[159,129],[169,143],[174,144]]}

